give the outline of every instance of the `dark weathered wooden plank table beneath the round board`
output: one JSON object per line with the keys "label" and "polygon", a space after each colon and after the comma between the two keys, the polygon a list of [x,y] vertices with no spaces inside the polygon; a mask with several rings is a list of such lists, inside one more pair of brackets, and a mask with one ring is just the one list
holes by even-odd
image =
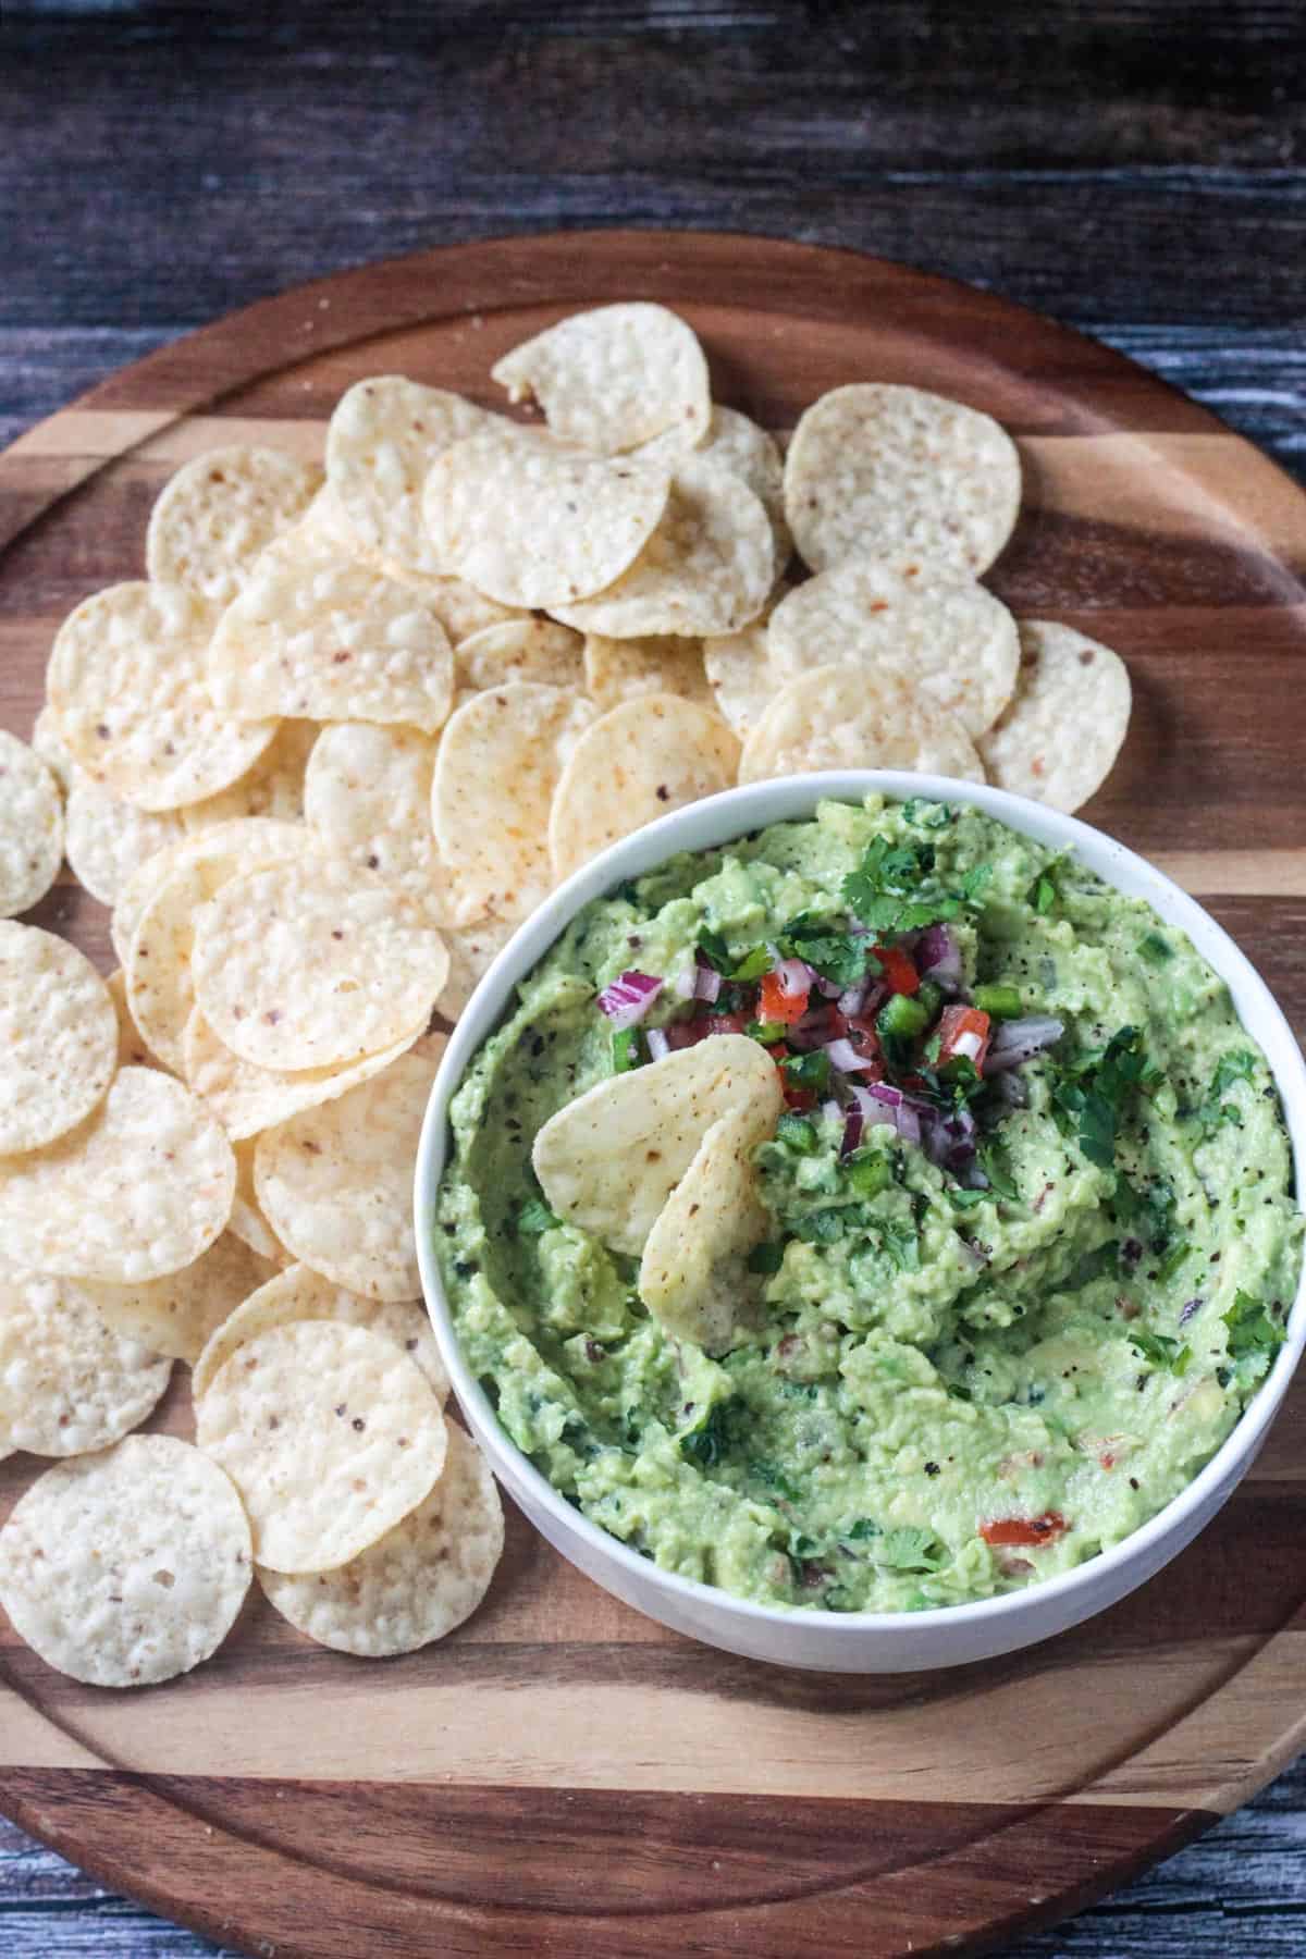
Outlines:
{"label": "dark weathered wooden plank table beneath the round board", "polygon": [[[0,441],[302,278],[601,223],[993,286],[1306,480],[1300,0],[0,0]],[[1304,1849],[1298,1765],[1008,1959],[1306,1953]],[[215,1947],[0,1820],[0,1953]]]}

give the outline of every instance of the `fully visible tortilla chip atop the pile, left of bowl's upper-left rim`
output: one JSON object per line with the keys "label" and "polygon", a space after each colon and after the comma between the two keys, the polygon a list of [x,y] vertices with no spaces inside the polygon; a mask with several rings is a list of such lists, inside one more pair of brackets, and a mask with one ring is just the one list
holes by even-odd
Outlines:
{"label": "fully visible tortilla chip atop the pile, left of bowl's upper-left rim", "polygon": [[196,919],[190,972],[204,1019],[243,1060],[331,1068],[425,1025],[448,952],[380,878],[307,858],[223,884]]}

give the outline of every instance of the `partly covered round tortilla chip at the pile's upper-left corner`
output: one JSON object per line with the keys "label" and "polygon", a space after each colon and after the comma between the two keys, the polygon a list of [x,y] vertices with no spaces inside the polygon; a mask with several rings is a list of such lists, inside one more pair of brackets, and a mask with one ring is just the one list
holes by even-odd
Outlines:
{"label": "partly covered round tortilla chip at the pile's upper-left corner", "polygon": [[282,449],[231,443],[192,456],[155,502],[145,568],[159,584],[229,605],[260,552],[300,521],[319,488],[317,464]]}

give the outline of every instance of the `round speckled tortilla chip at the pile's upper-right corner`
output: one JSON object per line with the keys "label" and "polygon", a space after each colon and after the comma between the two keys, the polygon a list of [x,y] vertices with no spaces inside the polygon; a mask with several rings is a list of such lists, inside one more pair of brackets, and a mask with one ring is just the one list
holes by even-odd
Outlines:
{"label": "round speckled tortilla chip at the pile's upper-right corner", "polygon": [[860,556],[903,576],[977,578],[1018,513],[1020,454],[1006,429],[924,388],[832,388],[785,456],[785,515],[815,572]]}

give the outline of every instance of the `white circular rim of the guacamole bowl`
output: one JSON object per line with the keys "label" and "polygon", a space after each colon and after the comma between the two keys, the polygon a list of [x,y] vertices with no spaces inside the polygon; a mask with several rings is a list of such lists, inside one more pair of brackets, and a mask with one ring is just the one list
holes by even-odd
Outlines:
{"label": "white circular rim of the guacamole bowl", "polygon": [[[1236,991],[1232,981],[1237,980],[1241,1003],[1236,999],[1236,1013],[1243,1030],[1265,1056],[1275,1087],[1279,1089],[1281,1113],[1292,1154],[1292,1193],[1298,1209],[1302,1207],[1306,1195],[1306,1060],[1286,1015],[1265,980],[1241,946],[1230,938],[1224,927],[1194,897],[1167,878],[1165,872],[1157,870],[1155,864],[1130,850],[1128,844],[1118,842],[1106,831],[1098,831],[1073,815],[1065,815],[1024,795],[1012,795],[991,784],[961,782],[948,776],[916,776],[903,770],[838,770],[744,784],[658,817],[654,823],[644,825],[644,829],[632,831],[629,836],[609,844],[589,864],[583,864],[517,927],[462,1009],[431,1085],[413,1173],[417,1264],[427,1313],[450,1383],[468,1424],[474,1428],[491,1463],[499,1467],[497,1459],[501,1459],[507,1465],[501,1473],[509,1479],[513,1475],[521,1479],[531,1489],[535,1501],[560,1526],[562,1534],[580,1538],[593,1550],[599,1561],[613,1559],[632,1583],[664,1591],[672,1599],[685,1601],[685,1604],[707,1606],[713,1612],[746,1624],[787,1628],[791,1634],[811,1634],[813,1642],[832,1638],[836,1632],[844,1636],[850,1632],[897,1636],[912,1628],[920,1634],[926,1630],[942,1634],[946,1628],[956,1628],[957,1640],[961,1640],[965,1630],[1018,1622],[1022,1616],[1053,1606],[1057,1601],[1075,1599],[1079,1593],[1087,1595],[1102,1585],[1110,1585],[1112,1573],[1132,1563],[1143,1563],[1147,1553],[1167,1538],[1179,1536],[1179,1544],[1187,1542],[1183,1536],[1185,1522],[1194,1512],[1202,1512],[1212,1499],[1214,1508],[1220,1508],[1245,1467],[1253,1461],[1306,1348],[1306,1248],[1298,1289],[1286,1318],[1286,1338],[1271,1371],[1216,1454],[1177,1497],[1171,1497],[1155,1516],[1140,1524],[1120,1544],[1087,1557],[1069,1571],[1061,1571],[1020,1591],[1001,1593],[993,1599],[926,1606],[916,1612],[832,1612],[818,1606],[760,1604],[758,1601],[724,1591],[721,1585],[707,1585],[701,1579],[666,1571],[652,1559],[642,1557],[621,1538],[593,1524],[535,1467],[531,1457],[517,1448],[499,1424],[490,1397],[462,1356],[439,1273],[439,1260],[435,1258],[435,1197],[446,1164],[448,1103],[474,1056],[501,1025],[517,981],[527,978],[544,958],[576,913],[609,891],[611,885],[644,876],[644,872],[654,870],[677,850],[711,850],[768,829],[773,823],[811,819],[816,803],[862,803],[871,793],[883,793],[891,801],[920,797],[924,801],[981,809],[1036,842],[1073,850],[1089,870],[1096,872],[1114,889],[1120,889],[1120,885],[1112,872],[1128,874],[1134,889],[1122,891],[1122,895],[1145,897],[1165,923],[1185,931],[1198,954],[1230,987],[1230,993]],[[693,840],[683,840],[685,833]],[[1255,1027],[1247,1025],[1249,1019],[1255,1021]],[[1228,1487],[1222,1489],[1226,1481]],[[1196,1528],[1202,1528],[1204,1522],[1206,1518],[1198,1516]],[[1126,1585],[1124,1589],[1132,1587]],[[1120,1597],[1120,1591],[1106,1593],[1100,1604],[1089,1604],[1077,1616],[1093,1616],[1114,1597]]]}

